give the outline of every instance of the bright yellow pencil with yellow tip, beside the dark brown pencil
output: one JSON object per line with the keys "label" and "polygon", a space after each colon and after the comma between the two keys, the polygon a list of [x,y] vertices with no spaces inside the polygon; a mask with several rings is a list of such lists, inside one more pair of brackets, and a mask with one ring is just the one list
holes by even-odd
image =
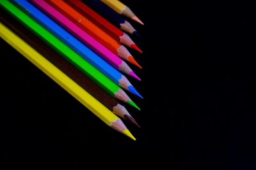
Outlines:
{"label": "bright yellow pencil with yellow tip, beside the dark brown pencil", "polygon": [[80,103],[86,106],[86,108],[92,111],[97,117],[105,122],[105,124],[136,140],[120,118],[116,117],[116,115],[109,111],[104,105],[90,96],[88,92],[77,85],[77,83],[60,71],[60,69],[51,64],[51,62],[46,60],[40,53],[36,52],[36,50],[29,46],[25,41],[20,39],[19,36],[15,35],[10,29],[1,24],[1,22],[0,36],[4,41],[13,46],[15,50],[24,55],[26,59],[35,64],[36,67],[58,83],[58,85],[65,89],[69,94],[75,97]]}

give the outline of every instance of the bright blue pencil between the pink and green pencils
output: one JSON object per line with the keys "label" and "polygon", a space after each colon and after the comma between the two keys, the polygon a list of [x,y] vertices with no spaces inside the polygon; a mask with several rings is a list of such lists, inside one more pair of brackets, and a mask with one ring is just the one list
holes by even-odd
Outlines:
{"label": "bright blue pencil between the pink and green pencils", "polygon": [[117,71],[114,67],[110,66],[105,60],[101,59],[99,55],[92,52],[89,48],[87,48],[83,43],[74,38],[71,34],[69,34],[65,29],[56,24],[51,18],[47,17],[44,13],[38,10],[35,6],[30,4],[26,0],[12,0],[13,3],[17,4],[19,8],[25,10],[26,13],[32,18],[36,20],[39,24],[45,27],[48,31],[58,37],[63,43],[72,48],[75,52],[77,52],[81,57],[90,62],[94,67],[99,69],[103,74],[108,76],[113,82],[115,82],[120,87],[132,92],[136,96],[142,98],[142,96],[136,91],[136,89],[131,85],[129,80]]}

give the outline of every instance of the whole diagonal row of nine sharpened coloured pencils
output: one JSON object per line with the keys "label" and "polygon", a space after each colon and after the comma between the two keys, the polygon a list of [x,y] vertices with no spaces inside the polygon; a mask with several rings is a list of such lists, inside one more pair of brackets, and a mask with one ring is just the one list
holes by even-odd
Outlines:
{"label": "whole diagonal row of nine sharpened coloured pencils", "polygon": [[6,43],[100,120],[135,140],[117,117],[140,127],[118,103],[140,110],[125,90],[143,99],[125,76],[141,80],[129,64],[141,66],[127,49],[142,53],[128,34],[140,35],[122,15],[143,22],[130,8],[118,0],[8,0],[0,8]]}

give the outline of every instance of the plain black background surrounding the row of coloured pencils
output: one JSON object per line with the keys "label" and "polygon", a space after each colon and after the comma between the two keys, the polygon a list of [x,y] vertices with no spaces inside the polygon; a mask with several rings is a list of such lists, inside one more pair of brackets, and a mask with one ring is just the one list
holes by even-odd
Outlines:
{"label": "plain black background surrounding the row of coloured pencils", "polygon": [[255,18],[246,1],[131,1],[137,141],[1,40],[3,169],[256,169]]}

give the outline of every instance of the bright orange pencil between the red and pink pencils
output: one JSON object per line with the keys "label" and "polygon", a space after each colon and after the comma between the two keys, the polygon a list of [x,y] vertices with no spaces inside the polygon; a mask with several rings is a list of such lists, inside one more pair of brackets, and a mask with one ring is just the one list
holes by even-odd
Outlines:
{"label": "bright orange pencil between the red and pink pencils", "polygon": [[[40,0],[43,1],[43,0]],[[122,59],[128,60],[132,64],[141,68],[140,64],[136,62],[134,57],[132,57],[131,53],[125,48],[125,46],[118,43],[115,39],[111,38],[106,32],[102,31],[99,27],[95,24],[90,22],[86,17],[81,15],[81,13],[77,12],[72,8],[70,5],[65,3],[64,1],[59,0],[46,0],[47,3],[51,4],[60,11],[63,15],[65,15],[68,19],[72,20],[75,24],[77,24],[81,29],[86,31],[88,34],[93,36],[93,38],[97,39],[106,46],[109,50],[113,53],[122,57]]]}

